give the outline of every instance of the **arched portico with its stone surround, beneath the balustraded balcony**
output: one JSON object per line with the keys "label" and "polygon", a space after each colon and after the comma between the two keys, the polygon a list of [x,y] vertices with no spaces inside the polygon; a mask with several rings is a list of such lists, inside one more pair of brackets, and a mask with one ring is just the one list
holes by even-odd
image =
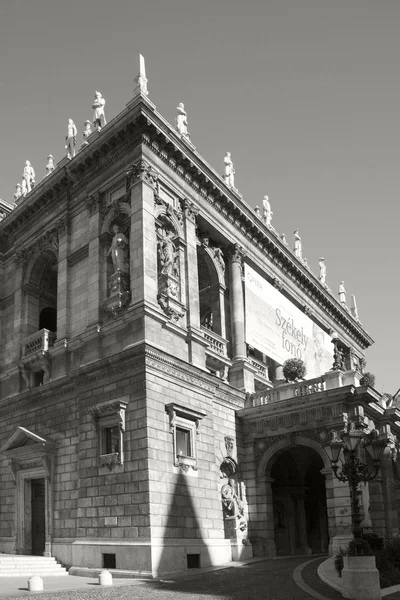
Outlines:
{"label": "arched portico with its stone surround, beneath the balustraded balcony", "polygon": [[[255,555],[327,551],[331,482],[329,458],[316,440],[294,435],[271,444],[257,467]],[[252,539],[251,525],[249,533]]]}

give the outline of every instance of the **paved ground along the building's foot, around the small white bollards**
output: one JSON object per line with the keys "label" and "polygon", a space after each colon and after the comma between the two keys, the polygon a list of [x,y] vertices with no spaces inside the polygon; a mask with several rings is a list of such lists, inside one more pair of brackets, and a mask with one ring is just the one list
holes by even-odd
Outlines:
{"label": "paved ground along the building's foot, around the small white bollards", "polygon": [[[27,591],[27,578],[0,578],[0,600],[40,596],[43,600],[338,600],[320,582],[316,569],[324,558],[252,559],[225,567],[190,571],[159,580],[45,577],[44,592]],[[296,580],[293,574],[296,573]]]}

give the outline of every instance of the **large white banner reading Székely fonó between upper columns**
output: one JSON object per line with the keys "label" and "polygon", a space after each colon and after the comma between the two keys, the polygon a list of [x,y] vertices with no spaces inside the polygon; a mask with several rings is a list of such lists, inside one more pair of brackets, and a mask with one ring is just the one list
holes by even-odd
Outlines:
{"label": "large white banner reading Sz\u00e9kely fon\u00f3 between upper columns", "polygon": [[301,358],[307,379],[332,368],[330,336],[245,264],[246,342],[279,364]]}

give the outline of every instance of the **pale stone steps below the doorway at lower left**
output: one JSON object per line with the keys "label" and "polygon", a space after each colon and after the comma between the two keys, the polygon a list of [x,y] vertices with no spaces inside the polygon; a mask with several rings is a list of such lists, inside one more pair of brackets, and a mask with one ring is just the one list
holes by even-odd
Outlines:
{"label": "pale stone steps below the doorway at lower left", "polygon": [[68,575],[53,556],[0,554],[0,577],[40,577]]}

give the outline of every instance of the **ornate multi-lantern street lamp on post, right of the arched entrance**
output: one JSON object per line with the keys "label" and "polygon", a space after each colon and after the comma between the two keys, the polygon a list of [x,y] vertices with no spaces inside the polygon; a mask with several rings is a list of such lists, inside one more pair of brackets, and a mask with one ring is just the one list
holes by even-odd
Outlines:
{"label": "ornate multi-lantern street lamp on post, right of the arched entrance", "polygon": [[[385,434],[379,435],[374,429],[365,432],[364,411],[362,406],[355,409],[355,418],[344,431],[333,432],[332,441],[325,446],[325,451],[332,464],[332,471],[339,481],[347,481],[350,487],[351,499],[351,531],[356,545],[361,542],[361,515],[358,497],[358,485],[367,482],[378,475],[379,464],[388,439]],[[360,448],[365,448],[371,456],[374,468],[370,470],[366,463],[359,458]]]}

